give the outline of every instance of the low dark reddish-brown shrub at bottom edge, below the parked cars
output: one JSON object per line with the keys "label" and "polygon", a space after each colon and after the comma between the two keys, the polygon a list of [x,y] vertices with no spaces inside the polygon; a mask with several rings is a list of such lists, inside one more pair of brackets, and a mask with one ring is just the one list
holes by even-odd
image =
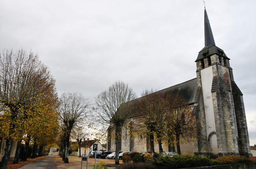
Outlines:
{"label": "low dark reddish-brown shrub at bottom edge, below the parked cars", "polygon": [[124,163],[116,169],[157,169],[157,167],[152,163]]}

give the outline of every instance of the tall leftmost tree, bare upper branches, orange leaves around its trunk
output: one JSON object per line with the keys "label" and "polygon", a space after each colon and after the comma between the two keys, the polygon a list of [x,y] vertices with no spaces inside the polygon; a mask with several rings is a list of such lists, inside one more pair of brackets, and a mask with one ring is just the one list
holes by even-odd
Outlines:
{"label": "tall leftmost tree, bare upper branches, orange leaves around its trunk", "polygon": [[3,51],[0,54],[0,102],[9,115],[7,131],[4,132],[6,147],[0,169],[7,167],[12,140],[21,139],[20,131],[23,131],[24,126],[17,123],[17,120],[24,119],[25,116],[21,108],[29,107],[31,100],[44,93],[53,81],[47,67],[39,61],[37,55],[31,52],[27,55],[23,50],[17,53]]}

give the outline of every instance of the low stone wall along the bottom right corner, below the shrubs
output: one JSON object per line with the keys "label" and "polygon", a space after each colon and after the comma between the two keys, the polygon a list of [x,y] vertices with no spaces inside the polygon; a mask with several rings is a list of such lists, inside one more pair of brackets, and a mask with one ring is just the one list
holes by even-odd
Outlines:
{"label": "low stone wall along the bottom right corner, below the shrubs", "polygon": [[213,166],[206,166],[206,167],[191,167],[186,169],[256,169],[256,162],[227,164],[227,165],[213,165]]}

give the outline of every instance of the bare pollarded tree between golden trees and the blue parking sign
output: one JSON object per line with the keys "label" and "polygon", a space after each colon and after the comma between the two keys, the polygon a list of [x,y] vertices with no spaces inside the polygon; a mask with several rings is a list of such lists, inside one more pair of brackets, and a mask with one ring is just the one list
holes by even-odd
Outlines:
{"label": "bare pollarded tree between golden trees and the blue parking sign", "polygon": [[64,163],[69,163],[69,140],[72,129],[81,123],[88,112],[89,103],[81,94],[63,94],[59,106],[64,125]]}

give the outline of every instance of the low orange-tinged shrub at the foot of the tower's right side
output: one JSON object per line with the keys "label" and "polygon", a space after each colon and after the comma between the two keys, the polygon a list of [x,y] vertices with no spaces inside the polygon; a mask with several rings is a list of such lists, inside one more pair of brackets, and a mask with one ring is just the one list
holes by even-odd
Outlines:
{"label": "low orange-tinged shrub at the foot of the tower's right side", "polygon": [[233,164],[233,163],[249,163],[252,162],[249,158],[245,156],[223,156],[215,159],[220,164]]}

